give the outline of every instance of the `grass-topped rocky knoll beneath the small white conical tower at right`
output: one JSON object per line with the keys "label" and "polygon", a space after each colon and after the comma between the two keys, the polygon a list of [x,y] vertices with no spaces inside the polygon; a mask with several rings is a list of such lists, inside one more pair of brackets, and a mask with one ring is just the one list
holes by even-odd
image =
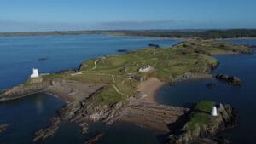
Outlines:
{"label": "grass-topped rocky knoll beneath the small white conical tower at right", "polygon": [[218,108],[218,116],[213,117],[209,112],[194,107],[186,118],[177,122],[177,130],[169,136],[168,143],[207,143],[206,140],[218,143],[215,136],[219,130],[236,126],[236,113],[230,105],[224,105]]}

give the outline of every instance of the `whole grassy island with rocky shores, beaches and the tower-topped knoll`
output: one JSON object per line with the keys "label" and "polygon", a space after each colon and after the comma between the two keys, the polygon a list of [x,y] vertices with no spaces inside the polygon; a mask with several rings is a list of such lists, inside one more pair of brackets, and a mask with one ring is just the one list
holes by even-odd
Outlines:
{"label": "whole grassy island with rocky shores, beaches and the tower-topped knoll", "polygon": [[222,104],[218,116],[213,117],[210,108],[218,104],[212,101],[201,101],[190,108],[172,107],[154,101],[154,94],[164,84],[213,78],[209,72],[218,66],[218,60],[212,55],[241,53],[253,51],[246,45],[193,38],[167,49],[149,47],[105,55],[84,61],[77,71],[30,78],[3,90],[0,101],[41,92],[68,101],[49,119],[48,127],[35,132],[34,141],[54,135],[61,121],[77,122],[86,133],[88,120],[105,124],[123,120],[166,130],[168,143],[201,141],[206,137],[215,141],[212,137],[226,128],[223,124],[236,124],[235,109]]}

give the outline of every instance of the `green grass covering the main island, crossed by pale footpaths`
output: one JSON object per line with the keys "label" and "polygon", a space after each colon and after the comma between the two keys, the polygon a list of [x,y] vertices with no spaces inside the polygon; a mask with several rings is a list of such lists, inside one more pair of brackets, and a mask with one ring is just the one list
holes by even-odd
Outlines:
{"label": "green grass covering the main island, crossed by pale footpaths", "polygon": [[[144,78],[159,78],[166,82],[172,81],[179,75],[186,72],[203,73],[211,70],[211,66],[216,66],[218,60],[211,54],[247,52],[245,46],[232,45],[228,43],[217,43],[215,41],[192,40],[179,43],[171,49],[139,49],[125,55],[107,55],[105,59],[92,59],[84,61],[80,66],[80,75],[71,76],[68,72],[60,74],[50,74],[44,76],[44,80],[55,78],[66,78],[80,82],[115,84],[125,95],[134,95],[139,82],[131,79],[134,74]],[[95,66],[97,67],[91,70]],[[154,67],[154,72],[143,73],[137,70],[141,66],[150,65]],[[120,70],[126,68],[126,72]],[[113,83],[113,78],[115,83]],[[108,87],[98,95],[99,100],[111,104],[121,101],[124,98],[112,87]]]}

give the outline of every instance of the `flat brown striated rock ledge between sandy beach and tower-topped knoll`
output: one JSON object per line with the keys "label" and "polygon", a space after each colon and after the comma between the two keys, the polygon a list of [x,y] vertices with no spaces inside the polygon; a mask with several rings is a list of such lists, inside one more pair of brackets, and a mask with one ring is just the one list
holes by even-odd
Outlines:
{"label": "flat brown striated rock ledge between sandy beach and tower-topped knoll", "polygon": [[156,103],[131,101],[122,112],[122,120],[168,131],[168,124],[174,123],[188,108],[171,107]]}

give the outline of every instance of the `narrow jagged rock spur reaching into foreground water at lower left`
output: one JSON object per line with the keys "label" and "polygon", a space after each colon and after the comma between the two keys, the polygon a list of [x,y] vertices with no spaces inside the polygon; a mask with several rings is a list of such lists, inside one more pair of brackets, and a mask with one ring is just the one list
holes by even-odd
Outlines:
{"label": "narrow jagged rock spur reaching into foreground water at lower left", "polygon": [[58,116],[49,119],[49,126],[35,132],[33,141],[44,140],[50,136],[55,135],[55,132],[59,129],[61,120]]}

